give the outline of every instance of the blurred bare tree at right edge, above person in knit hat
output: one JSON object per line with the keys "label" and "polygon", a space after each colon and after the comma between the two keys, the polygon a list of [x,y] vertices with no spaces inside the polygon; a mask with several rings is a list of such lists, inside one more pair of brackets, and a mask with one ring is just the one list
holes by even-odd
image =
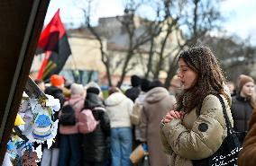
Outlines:
{"label": "blurred bare tree at right edge, above person in knit hat", "polygon": [[253,71],[256,63],[256,48],[251,46],[248,39],[207,35],[204,37],[204,42],[214,50],[228,80],[235,83],[239,74],[251,74]]}

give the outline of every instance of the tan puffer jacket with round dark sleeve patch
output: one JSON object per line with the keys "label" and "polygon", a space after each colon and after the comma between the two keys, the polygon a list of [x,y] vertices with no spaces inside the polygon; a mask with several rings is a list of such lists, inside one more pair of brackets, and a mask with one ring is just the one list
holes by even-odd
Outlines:
{"label": "tan puffer jacket with round dark sleeve patch", "polygon": [[[231,98],[225,100],[227,115],[233,125],[230,106]],[[221,102],[215,95],[207,95],[203,100],[200,116],[196,109],[183,119],[175,118],[160,125],[160,135],[169,166],[192,166],[191,160],[204,159],[215,153],[224,141],[226,126]]]}

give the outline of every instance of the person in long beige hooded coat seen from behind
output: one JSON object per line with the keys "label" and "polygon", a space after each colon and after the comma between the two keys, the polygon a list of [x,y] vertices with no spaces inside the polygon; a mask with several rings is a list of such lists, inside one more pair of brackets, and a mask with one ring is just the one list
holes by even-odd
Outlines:
{"label": "person in long beige hooded coat seen from behind", "polygon": [[159,124],[161,118],[169,109],[173,109],[175,97],[163,88],[160,81],[150,83],[150,91],[146,93],[143,102],[140,123],[141,141],[149,147],[151,166],[167,166],[168,156],[163,152],[160,142]]}

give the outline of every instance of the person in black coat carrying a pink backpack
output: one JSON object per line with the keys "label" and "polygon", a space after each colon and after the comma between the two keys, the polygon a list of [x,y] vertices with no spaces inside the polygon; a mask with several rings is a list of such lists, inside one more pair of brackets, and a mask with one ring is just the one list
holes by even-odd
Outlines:
{"label": "person in black coat carrying a pink backpack", "polygon": [[105,107],[98,96],[99,90],[95,87],[87,89],[85,109],[91,109],[99,124],[92,133],[83,135],[83,165],[103,166],[108,158],[107,137],[110,136],[110,120],[105,113]]}

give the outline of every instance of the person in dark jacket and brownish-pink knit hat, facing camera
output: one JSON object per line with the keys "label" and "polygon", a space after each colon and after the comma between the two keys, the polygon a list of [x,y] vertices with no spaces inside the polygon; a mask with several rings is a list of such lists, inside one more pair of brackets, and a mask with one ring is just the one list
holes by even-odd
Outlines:
{"label": "person in dark jacket and brownish-pink knit hat, facing camera", "polygon": [[249,75],[241,74],[238,77],[238,93],[233,96],[232,100],[232,116],[233,129],[240,132],[240,141],[243,141],[249,126],[248,122],[251,118],[252,109],[255,108],[254,98],[254,80]]}

